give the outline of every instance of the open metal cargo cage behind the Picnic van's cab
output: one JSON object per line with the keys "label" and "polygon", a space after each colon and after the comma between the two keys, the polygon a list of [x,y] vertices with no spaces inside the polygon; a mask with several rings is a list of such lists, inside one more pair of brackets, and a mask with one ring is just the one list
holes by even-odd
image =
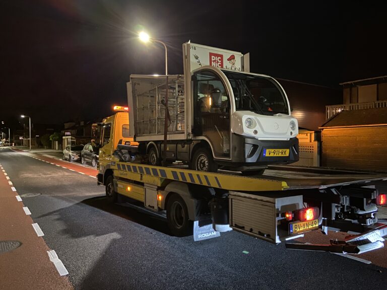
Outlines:
{"label": "open metal cargo cage behind the Picnic van's cab", "polygon": [[[168,93],[168,134],[184,133],[184,79],[183,76],[132,76],[128,104],[134,117],[136,137],[164,134],[165,95]],[[131,120],[132,121],[132,120]]]}

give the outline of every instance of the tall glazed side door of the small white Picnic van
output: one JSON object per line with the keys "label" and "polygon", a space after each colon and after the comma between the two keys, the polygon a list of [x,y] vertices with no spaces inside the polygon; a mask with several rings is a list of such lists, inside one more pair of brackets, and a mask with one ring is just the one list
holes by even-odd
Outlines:
{"label": "tall glazed side door of the small white Picnic van", "polygon": [[231,106],[224,82],[212,69],[196,71],[192,93],[193,136],[210,142],[215,158],[229,159]]}

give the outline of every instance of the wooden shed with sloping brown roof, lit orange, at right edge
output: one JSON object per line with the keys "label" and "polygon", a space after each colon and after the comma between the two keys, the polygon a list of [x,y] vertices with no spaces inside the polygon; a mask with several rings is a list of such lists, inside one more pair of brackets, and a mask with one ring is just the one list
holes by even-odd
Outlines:
{"label": "wooden shed with sloping brown roof, lit orange, at right edge", "polygon": [[387,172],[387,108],[342,111],[320,129],[322,166]]}

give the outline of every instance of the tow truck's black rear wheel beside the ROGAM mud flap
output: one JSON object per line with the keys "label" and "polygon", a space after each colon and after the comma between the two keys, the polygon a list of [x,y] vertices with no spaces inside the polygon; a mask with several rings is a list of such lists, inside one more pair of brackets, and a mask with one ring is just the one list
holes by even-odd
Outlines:
{"label": "tow truck's black rear wheel beside the ROGAM mud flap", "polygon": [[173,193],[167,203],[167,223],[172,234],[185,237],[192,234],[193,223],[188,220],[188,209],[180,195]]}

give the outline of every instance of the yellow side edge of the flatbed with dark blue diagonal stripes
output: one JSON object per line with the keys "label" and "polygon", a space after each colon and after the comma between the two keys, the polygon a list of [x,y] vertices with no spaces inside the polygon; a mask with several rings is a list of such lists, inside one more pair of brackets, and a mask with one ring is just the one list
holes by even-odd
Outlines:
{"label": "yellow side edge of the flatbed with dark blue diagonal stripes", "polygon": [[114,175],[117,177],[157,186],[165,186],[175,180],[235,191],[276,191],[289,187],[284,181],[202,172],[175,167],[112,162],[111,168],[114,169]]}

